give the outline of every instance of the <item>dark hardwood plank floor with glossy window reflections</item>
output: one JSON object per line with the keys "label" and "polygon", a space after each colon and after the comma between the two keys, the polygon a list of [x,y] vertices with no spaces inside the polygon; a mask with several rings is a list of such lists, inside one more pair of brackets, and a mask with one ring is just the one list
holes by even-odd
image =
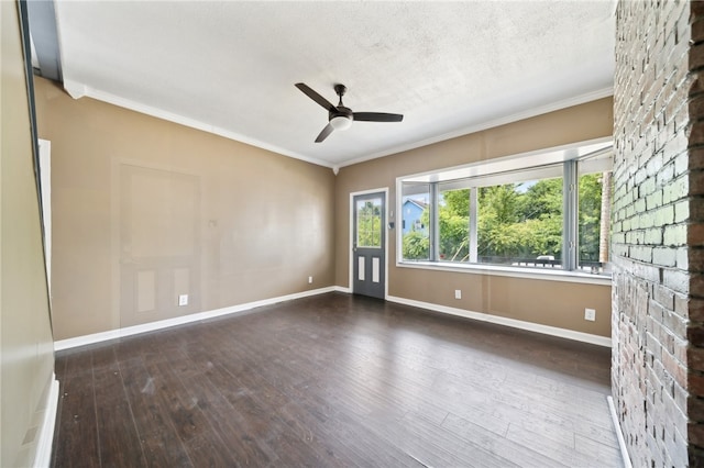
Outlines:
{"label": "dark hardwood plank floor with glossy window reflections", "polygon": [[53,466],[622,466],[607,348],[330,293],[57,354]]}

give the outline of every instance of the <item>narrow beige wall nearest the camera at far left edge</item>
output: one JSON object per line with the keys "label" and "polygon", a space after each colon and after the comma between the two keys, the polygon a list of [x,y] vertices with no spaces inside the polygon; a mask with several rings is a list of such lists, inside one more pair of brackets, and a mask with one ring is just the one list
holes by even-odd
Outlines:
{"label": "narrow beige wall nearest the camera at far left edge", "polygon": [[54,371],[24,59],[15,2],[0,2],[0,466],[33,466]]}

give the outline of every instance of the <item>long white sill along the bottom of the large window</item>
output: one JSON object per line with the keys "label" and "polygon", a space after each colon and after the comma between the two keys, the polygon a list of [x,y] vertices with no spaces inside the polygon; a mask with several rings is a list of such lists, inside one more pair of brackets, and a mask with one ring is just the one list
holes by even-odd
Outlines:
{"label": "long white sill along the bottom of the large window", "polygon": [[398,268],[416,268],[438,271],[464,272],[471,275],[492,275],[512,278],[539,279],[543,281],[581,282],[585,285],[610,286],[610,274],[593,275],[560,269],[502,267],[497,265],[458,265],[436,261],[396,261]]}

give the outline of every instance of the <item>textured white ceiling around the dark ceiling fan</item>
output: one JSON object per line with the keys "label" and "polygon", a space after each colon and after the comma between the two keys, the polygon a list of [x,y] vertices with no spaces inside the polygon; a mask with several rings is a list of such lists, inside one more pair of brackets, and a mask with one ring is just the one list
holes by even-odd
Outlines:
{"label": "textured white ceiling around the dark ceiling fan", "polygon": [[[64,85],[334,167],[610,94],[613,0],[56,1]],[[353,111],[322,143],[327,112]]]}

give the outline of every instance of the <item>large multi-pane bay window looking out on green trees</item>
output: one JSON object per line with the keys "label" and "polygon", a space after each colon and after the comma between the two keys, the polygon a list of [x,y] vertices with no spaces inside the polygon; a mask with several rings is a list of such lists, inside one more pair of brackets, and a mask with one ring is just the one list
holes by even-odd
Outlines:
{"label": "large multi-pane bay window looking out on green trees", "polygon": [[399,260],[604,272],[612,159],[601,143],[399,178]]}

